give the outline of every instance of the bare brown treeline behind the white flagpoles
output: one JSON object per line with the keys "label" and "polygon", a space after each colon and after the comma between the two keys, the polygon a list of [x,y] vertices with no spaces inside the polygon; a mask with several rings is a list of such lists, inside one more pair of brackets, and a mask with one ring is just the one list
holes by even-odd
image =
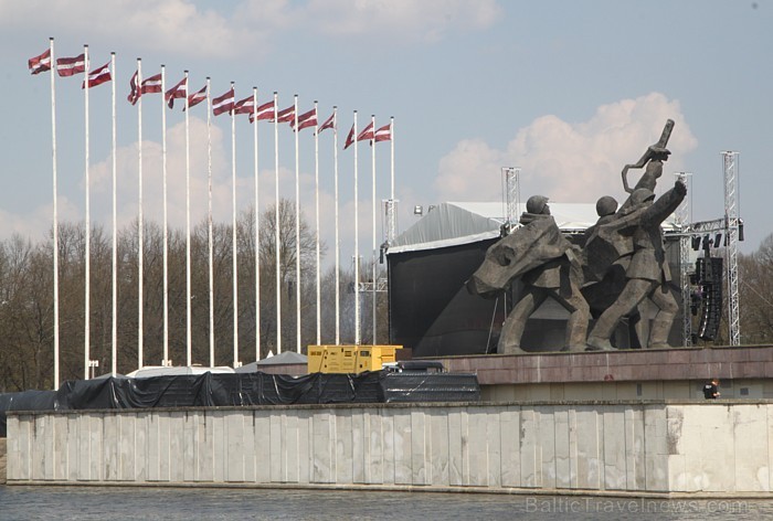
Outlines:
{"label": "bare brown treeline behind the white flagpoles", "polygon": [[[279,204],[279,270],[282,291],[282,350],[296,349],[296,233],[295,204]],[[300,217],[300,325],[301,349],[317,341],[315,232]],[[260,219],[260,337],[261,358],[276,353],[275,206]],[[239,359],[255,360],[255,219],[243,211],[236,223]],[[213,316],[215,365],[233,364],[233,257],[232,226],[213,224]],[[138,225],[120,230],[117,241],[117,371],[128,373],[138,364]],[[194,364],[210,363],[210,297],[208,224],[191,230],[191,350]],[[186,233],[168,233],[168,345],[174,365],[186,364]],[[96,374],[110,371],[113,330],[113,235],[92,227],[89,288],[91,360]],[[322,258],[327,252],[320,246]],[[84,376],[85,252],[83,224],[60,223],[59,302],[60,381]],[[144,226],[144,364],[160,365],[163,357],[163,233],[146,221]],[[349,260],[349,259],[347,259]],[[341,262],[340,331],[342,342],[353,342],[354,295],[350,262]],[[367,268],[362,268],[362,272]],[[368,275],[361,275],[367,278]],[[320,284],[321,341],[335,342],[335,272],[327,269]],[[52,389],[54,351],[53,241],[40,243],[13,236],[0,242],[0,392]],[[379,294],[379,339],[386,339],[385,294]],[[361,339],[372,338],[371,299],[360,297]]]}

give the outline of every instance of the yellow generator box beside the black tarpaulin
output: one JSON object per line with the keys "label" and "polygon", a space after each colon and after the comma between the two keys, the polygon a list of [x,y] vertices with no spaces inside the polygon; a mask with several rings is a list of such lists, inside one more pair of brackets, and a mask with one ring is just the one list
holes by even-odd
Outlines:
{"label": "yellow generator box beside the black tarpaulin", "polygon": [[396,361],[402,345],[309,345],[308,372],[358,374]]}

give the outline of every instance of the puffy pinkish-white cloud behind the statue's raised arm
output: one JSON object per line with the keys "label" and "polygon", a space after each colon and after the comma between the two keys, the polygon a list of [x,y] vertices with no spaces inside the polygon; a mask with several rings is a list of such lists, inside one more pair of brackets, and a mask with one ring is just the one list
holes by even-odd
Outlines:
{"label": "puffy pinkish-white cloud behind the statue's raised arm", "polygon": [[[697,140],[679,103],[652,93],[596,109],[591,119],[570,124],[543,116],[518,130],[506,150],[480,140],[459,141],[440,161],[435,187],[444,201],[499,201],[501,167],[520,167],[521,196],[542,193],[559,202],[595,202],[621,196],[621,171],[657,141],[666,120],[675,120],[667,172],[684,170],[685,156]],[[640,171],[629,172],[634,184]],[[659,189],[670,181],[660,183]]]}

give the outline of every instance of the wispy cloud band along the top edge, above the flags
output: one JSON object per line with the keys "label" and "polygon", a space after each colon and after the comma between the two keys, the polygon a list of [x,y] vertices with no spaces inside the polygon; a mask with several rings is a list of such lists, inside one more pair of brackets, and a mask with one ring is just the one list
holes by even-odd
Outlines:
{"label": "wispy cloud band along the top edge, above the flags", "polygon": [[[201,8],[192,0],[0,0],[0,28],[46,29],[55,38],[109,43],[137,53],[165,50],[194,57],[264,55],[279,31],[309,34],[441,40],[484,29],[497,19],[495,0],[244,0]],[[204,2],[205,3],[205,2]],[[301,29],[303,28],[303,29]]]}

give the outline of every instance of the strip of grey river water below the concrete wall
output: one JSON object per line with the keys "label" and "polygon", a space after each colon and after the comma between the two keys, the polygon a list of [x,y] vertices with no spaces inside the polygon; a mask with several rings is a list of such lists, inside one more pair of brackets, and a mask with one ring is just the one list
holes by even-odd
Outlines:
{"label": "strip of grey river water below the concrete wall", "polygon": [[3,487],[0,520],[773,519],[771,500],[655,500],[345,490]]}

